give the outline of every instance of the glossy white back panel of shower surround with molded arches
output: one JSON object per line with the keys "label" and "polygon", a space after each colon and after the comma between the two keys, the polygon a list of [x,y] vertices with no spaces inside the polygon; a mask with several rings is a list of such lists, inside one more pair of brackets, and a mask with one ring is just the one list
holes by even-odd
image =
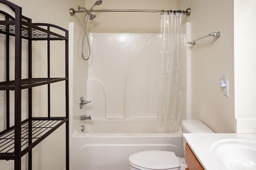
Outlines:
{"label": "glossy white back panel of shower surround with molded arches", "polygon": [[155,118],[160,34],[90,33],[86,114],[93,119]]}

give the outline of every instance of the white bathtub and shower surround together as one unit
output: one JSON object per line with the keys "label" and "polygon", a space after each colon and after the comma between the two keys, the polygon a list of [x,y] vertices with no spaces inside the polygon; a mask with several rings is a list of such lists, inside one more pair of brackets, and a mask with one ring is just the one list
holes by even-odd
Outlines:
{"label": "white bathtub and shower surround together as one unit", "polygon": [[[127,170],[130,154],[142,150],[183,157],[180,131],[156,133],[160,34],[89,33],[88,61],[81,27],[71,23],[70,36],[70,169]],[[80,109],[80,96],[92,102]]]}

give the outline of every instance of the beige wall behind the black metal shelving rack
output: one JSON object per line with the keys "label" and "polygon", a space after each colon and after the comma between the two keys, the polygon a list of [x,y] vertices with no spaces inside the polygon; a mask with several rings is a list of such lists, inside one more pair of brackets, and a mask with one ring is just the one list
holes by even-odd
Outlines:
{"label": "beige wall behind the black metal shelving rack", "polygon": [[[68,29],[69,21],[73,21],[78,25],[82,25],[82,16],[70,16],[69,8],[77,6],[78,4],[84,5],[84,0],[9,0],[14,4],[17,4],[22,7],[22,15],[27,16],[32,19],[32,22],[40,23],[52,23],[65,29]],[[1,8],[1,6],[0,6]],[[5,7],[4,7],[5,8]],[[2,8],[1,8],[2,9]],[[2,37],[0,37],[1,39]],[[1,41],[2,42],[2,41]],[[26,42],[22,41],[24,45],[22,50],[26,51]],[[64,41],[63,41],[64,42]],[[53,48],[51,49],[51,62],[55,63],[51,66],[51,74],[55,75],[65,75],[64,73],[64,43],[60,42],[60,46],[56,45],[58,42],[52,42]],[[2,44],[2,43],[1,43]],[[33,54],[36,56],[33,57],[33,75],[34,76],[45,76],[46,74],[46,50],[47,43],[42,41],[33,42]],[[2,49],[2,47],[1,47]],[[26,63],[26,53],[22,52],[22,62]],[[1,53],[2,54],[2,53]],[[13,53],[12,53],[13,54]],[[2,58],[2,56],[1,56]],[[24,59],[24,60],[23,60]],[[23,64],[22,64],[23,65]],[[1,65],[2,66],[2,65]],[[23,68],[23,74],[26,77],[26,64]],[[3,76],[2,74],[0,76]],[[13,77],[13,75],[11,75]],[[0,77],[4,79],[4,77]],[[61,86],[59,86],[61,85]],[[65,105],[64,101],[64,84],[62,82],[52,84],[52,102],[55,103],[51,107],[52,116],[65,115]],[[60,88],[61,87],[61,88]],[[63,87],[63,88],[62,88]],[[36,102],[33,102],[33,116],[46,116],[45,110],[47,104],[45,101],[46,95],[44,87],[33,88],[33,97]],[[26,101],[26,91],[25,92],[25,101]],[[60,97],[61,96],[61,97]],[[61,100],[61,102],[58,102]],[[60,103],[60,104],[56,104]],[[64,103],[65,104],[65,103]],[[2,106],[2,103],[1,103]],[[24,104],[26,107],[26,102]],[[24,109],[26,110],[26,108]],[[24,111],[26,112],[26,111]],[[55,112],[55,113],[54,113]],[[1,111],[1,115],[2,115]],[[24,113],[26,115],[26,113]],[[24,118],[24,116],[23,116]],[[22,160],[22,169],[26,168],[26,160],[23,157]],[[42,141],[33,149],[33,169],[36,170],[63,170],[65,167],[65,126],[62,125],[59,129],[54,131],[49,137]],[[13,170],[14,162],[12,160],[0,160],[0,169],[4,170]]]}

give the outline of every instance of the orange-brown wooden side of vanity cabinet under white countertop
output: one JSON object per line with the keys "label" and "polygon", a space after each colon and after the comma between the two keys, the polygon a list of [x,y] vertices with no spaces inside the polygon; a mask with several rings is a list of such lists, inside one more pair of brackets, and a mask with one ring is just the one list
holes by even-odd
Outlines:
{"label": "orange-brown wooden side of vanity cabinet under white countertop", "polygon": [[198,159],[196,158],[193,151],[190,149],[188,144],[186,143],[186,163],[188,168],[186,170],[204,170]]}

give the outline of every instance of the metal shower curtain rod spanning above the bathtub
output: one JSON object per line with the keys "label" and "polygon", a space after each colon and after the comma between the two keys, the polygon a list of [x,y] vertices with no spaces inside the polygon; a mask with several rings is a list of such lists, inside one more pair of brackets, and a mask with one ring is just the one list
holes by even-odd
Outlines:
{"label": "metal shower curtain rod spanning above the bathtub", "polygon": [[191,13],[191,9],[188,8],[186,9],[186,11],[181,11],[181,10],[78,10],[78,11],[75,11],[74,8],[70,8],[69,9],[69,13],[70,15],[75,15],[76,13],[82,13],[82,12],[161,12],[161,14],[164,14],[164,12],[166,13],[184,13],[186,14],[187,16],[190,16],[190,13]]}

